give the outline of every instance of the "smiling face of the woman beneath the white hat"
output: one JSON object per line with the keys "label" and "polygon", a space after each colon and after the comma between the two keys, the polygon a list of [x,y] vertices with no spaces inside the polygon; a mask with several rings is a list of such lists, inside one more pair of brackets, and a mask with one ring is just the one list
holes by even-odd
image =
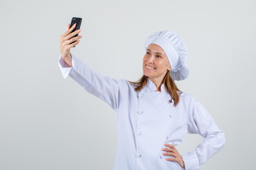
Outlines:
{"label": "smiling face of the woman beneath the white hat", "polygon": [[166,53],[157,44],[150,44],[143,57],[143,74],[150,78],[162,80],[167,70],[171,70],[171,65]]}

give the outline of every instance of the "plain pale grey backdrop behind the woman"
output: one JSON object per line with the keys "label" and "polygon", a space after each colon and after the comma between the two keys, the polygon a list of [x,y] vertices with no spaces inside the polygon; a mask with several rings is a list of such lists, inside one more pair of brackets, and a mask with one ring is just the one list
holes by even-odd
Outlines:
{"label": "plain pale grey backdrop behind the woman", "polygon": [[[115,79],[141,77],[144,41],[181,35],[190,75],[176,82],[225,131],[226,144],[200,170],[254,169],[256,120],[254,0],[0,0],[0,170],[113,170],[115,111],[58,66],[59,36],[83,19],[71,49]],[[187,134],[180,154],[195,150]]]}

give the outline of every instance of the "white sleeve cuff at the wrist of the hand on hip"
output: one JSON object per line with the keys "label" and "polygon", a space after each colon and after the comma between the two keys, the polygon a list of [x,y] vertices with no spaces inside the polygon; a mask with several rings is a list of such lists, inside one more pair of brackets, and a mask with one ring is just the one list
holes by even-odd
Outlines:
{"label": "white sleeve cuff at the wrist of the hand on hip", "polygon": [[186,170],[199,170],[199,159],[195,151],[182,154],[181,156]]}

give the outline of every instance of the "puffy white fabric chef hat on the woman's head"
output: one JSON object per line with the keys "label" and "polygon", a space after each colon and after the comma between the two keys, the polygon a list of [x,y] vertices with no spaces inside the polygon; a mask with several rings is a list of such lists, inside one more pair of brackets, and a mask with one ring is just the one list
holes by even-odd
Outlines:
{"label": "puffy white fabric chef hat on the woman's head", "polygon": [[148,36],[145,41],[145,49],[149,44],[157,44],[164,50],[171,64],[169,73],[173,80],[180,81],[188,77],[189,67],[186,64],[186,58],[189,51],[180,35],[169,30],[157,31]]}

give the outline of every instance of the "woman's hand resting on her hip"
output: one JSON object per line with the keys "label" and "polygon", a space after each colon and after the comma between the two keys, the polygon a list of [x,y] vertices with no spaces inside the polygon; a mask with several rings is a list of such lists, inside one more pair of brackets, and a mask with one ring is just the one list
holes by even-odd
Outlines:
{"label": "woman's hand resting on her hip", "polygon": [[168,148],[163,148],[163,155],[167,155],[167,156],[173,156],[174,158],[166,158],[167,161],[176,161],[177,163],[179,163],[179,165],[181,166],[181,168],[185,168],[184,167],[184,162],[183,159],[180,155],[180,153],[177,151],[177,149],[175,148],[174,145],[170,145],[170,144],[164,144],[165,146],[167,146]]}

